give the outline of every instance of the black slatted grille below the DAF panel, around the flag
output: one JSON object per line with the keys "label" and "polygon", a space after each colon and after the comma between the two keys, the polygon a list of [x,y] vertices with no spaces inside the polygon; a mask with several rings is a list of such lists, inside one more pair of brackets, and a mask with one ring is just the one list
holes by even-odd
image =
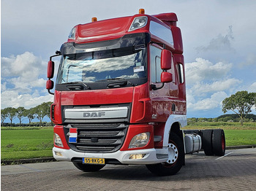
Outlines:
{"label": "black slatted grille below the DAF panel, around the flag", "polygon": [[[69,143],[69,128],[78,128],[77,143]],[[115,152],[121,148],[128,125],[71,124],[64,127],[69,147],[78,152]]]}

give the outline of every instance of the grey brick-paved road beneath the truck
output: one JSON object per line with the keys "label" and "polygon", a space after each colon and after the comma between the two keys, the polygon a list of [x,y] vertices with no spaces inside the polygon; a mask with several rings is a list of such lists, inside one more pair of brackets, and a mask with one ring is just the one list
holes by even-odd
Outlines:
{"label": "grey brick-paved road beneath the truck", "polygon": [[69,162],[1,166],[1,190],[256,190],[256,149],[186,156],[175,176],[154,176],[144,165],[108,165],[84,173]]}

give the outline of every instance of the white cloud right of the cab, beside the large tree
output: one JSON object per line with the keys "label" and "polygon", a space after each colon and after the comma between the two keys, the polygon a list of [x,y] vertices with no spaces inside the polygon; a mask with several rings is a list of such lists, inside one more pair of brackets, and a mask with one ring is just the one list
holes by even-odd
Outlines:
{"label": "white cloud right of the cab, beside the large tree", "polygon": [[232,63],[214,64],[203,58],[185,64],[188,111],[220,109],[227,94],[236,90],[242,82],[240,79],[228,78],[232,66]]}

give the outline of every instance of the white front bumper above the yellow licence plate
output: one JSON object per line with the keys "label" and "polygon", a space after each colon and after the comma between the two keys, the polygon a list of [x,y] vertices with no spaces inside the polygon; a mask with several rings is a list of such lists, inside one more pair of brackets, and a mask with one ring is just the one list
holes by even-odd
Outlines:
{"label": "white front bumper above the yellow licence plate", "polygon": [[[61,154],[61,155],[60,155]],[[129,159],[130,155],[136,154],[146,154],[142,159]],[[154,163],[165,163],[167,158],[157,158],[156,149],[138,149],[129,151],[116,151],[111,153],[85,153],[85,152],[75,152],[72,149],[60,149],[53,147],[53,157],[56,160],[66,160],[72,161],[73,158],[83,158],[83,157],[95,157],[95,158],[105,158],[105,159],[116,159],[121,164],[134,164],[134,165],[146,165]]]}

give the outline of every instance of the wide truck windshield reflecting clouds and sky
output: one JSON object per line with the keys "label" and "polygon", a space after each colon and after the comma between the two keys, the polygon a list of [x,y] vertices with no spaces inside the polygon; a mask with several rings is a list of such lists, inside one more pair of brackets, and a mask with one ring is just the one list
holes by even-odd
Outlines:
{"label": "wide truck windshield reflecting clouds and sky", "polygon": [[57,84],[146,77],[146,48],[133,47],[64,55]]}

